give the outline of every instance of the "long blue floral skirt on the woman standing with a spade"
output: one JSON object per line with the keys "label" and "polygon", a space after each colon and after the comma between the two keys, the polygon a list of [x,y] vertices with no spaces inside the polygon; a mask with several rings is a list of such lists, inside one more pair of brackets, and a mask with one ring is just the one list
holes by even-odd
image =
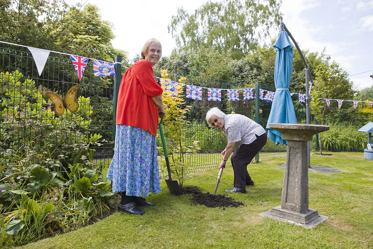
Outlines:
{"label": "long blue floral skirt on the woman standing with a spade", "polygon": [[115,149],[107,179],[113,192],[128,196],[160,193],[156,137],[149,131],[128,125],[116,125]]}

